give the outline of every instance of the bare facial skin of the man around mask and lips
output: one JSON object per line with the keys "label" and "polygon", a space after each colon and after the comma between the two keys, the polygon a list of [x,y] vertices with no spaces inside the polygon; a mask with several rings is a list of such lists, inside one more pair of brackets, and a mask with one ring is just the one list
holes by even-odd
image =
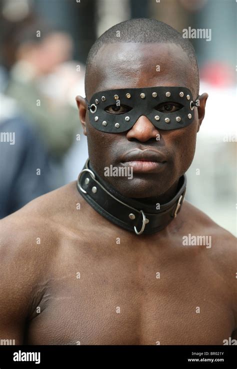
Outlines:
{"label": "bare facial skin of the man around mask and lips", "polygon": [[[193,85],[190,61],[180,46],[175,44],[139,44],[114,43],[99,49],[95,66],[91,68],[89,100],[94,92],[125,88],[126,86],[186,86],[191,89],[193,98],[197,97],[196,86]],[[156,53],[150,51],[156,49]],[[110,53],[110,57],[107,55]],[[118,55],[120,62],[118,63]],[[133,55],[133,56],[132,56]],[[178,57],[177,57],[178,55]],[[147,59],[149,61],[147,62]],[[156,71],[156,65],[160,71]],[[104,73],[106,65],[106,74]],[[118,67],[119,65],[119,67]],[[96,76],[96,77],[94,77]],[[177,181],[188,169],[195,151],[196,132],[204,117],[207,94],[200,96],[200,107],[192,124],[181,129],[158,130],[144,115],[140,116],[133,127],[125,133],[103,133],[93,128],[86,114],[84,99],[77,96],[80,121],[84,134],[87,135],[89,158],[92,166],[100,176],[104,167],[112,164],[120,166],[123,154],[133,148],[153,148],[159,150],[167,158],[165,171],[159,175],[136,175],[132,180],[123,177],[108,177],[107,181],[127,197],[149,197],[166,202],[176,191]],[[198,115],[199,114],[199,115]],[[160,140],[155,138],[160,135]],[[99,149],[99,155],[98,155]]]}

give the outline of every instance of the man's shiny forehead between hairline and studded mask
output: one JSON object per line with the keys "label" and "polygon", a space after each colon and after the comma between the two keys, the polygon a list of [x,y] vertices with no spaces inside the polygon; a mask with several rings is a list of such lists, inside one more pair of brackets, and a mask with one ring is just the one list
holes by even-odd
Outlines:
{"label": "man's shiny forehead between hairline and studded mask", "polygon": [[93,65],[89,97],[97,91],[126,87],[183,86],[194,92],[188,56],[174,43],[104,44]]}

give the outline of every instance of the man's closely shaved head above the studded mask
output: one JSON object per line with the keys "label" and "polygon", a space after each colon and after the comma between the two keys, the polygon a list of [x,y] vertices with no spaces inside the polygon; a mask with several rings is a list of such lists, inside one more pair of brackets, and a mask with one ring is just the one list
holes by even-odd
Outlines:
{"label": "man's closely shaved head above the studded mask", "polygon": [[[146,85],[139,85],[144,76]],[[199,91],[194,48],[168,24],[147,18],[126,20],[92,45],[85,70],[87,99],[103,89],[155,85],[186,86],[195,97]]]}

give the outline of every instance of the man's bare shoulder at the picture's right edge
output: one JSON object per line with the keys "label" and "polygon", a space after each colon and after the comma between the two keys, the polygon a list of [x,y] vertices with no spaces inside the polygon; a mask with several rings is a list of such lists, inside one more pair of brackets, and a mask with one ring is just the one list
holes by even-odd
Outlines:
{"label": "man's bare shoulder at the picture's right edge", "polygon": [[189,202],[184,201],[183,205],[185,231],[189,238],[194,235],[194,240],[197,236],[202,241],[196,250],[201,253],[203,268],[211,275],[219,293],[229,296],[237,322],[236,237]]}

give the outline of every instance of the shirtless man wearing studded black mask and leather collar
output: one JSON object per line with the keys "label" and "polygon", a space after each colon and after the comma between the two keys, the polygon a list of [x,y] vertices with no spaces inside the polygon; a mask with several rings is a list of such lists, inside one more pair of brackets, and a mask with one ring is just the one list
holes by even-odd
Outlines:
{"label": "shirtless man wearing studded black mask and leather collar", "polygon": [[[0,336],[26,344],[234,340],[235,238],[183,201],[207,99],[198,95],[191,44],[156,20],[116,24],[89,52],[85,92],[76,101],[89,162],[77,185],[0,222]],[[110,165],[132,168],[132,178],[104,175]],[[208,241],[193,244],[188,234]]]}

